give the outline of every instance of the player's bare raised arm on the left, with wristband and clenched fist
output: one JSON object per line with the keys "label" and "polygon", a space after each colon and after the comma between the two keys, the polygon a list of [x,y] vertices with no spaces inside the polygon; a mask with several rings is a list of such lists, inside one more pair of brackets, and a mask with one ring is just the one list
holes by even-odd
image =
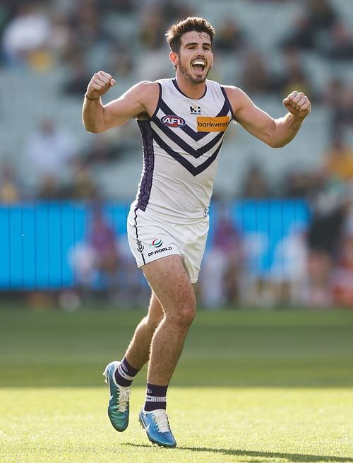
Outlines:
{"label": "player's bare raised arm on the left, with wristband and clenched fist", "polygon": [[102,105],[100,97],[114,86],[116,81],[104,71],[97,72],[88,84],[83,102],[82,119],[86,130],[98,134],[125,124],[141,113],[148,113],[149,95],[155,93],[155,82],[140,82],[121,97]]}

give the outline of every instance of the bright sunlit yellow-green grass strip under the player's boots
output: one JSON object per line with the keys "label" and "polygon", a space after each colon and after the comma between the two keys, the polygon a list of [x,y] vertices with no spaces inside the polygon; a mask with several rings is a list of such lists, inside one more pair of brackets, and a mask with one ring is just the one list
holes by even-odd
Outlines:
{"label": "bright sunlit yellow-green grass strip under the player's boots", "polygon": [[150,445],[137,422],[116,433],[107,389],[0,389],[1,463],[353,462],[353,390],[177,388],[169,392],[175,450]]}

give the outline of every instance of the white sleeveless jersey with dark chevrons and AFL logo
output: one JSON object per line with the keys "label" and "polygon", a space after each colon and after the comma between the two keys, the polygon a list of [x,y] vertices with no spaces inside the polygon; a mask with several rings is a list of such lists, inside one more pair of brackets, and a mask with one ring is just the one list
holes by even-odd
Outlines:
{"label": "white sleeveless jersey with dark chevrons and AFL logo", "polygon": [[193,100],[176,79],[161,79],[151,119],[138,121],[143,139],[143,172],[133,208],[174,223],[208,215],[218,153],[232,120],[232,107],[219,83],[206,81],[203,98]]}

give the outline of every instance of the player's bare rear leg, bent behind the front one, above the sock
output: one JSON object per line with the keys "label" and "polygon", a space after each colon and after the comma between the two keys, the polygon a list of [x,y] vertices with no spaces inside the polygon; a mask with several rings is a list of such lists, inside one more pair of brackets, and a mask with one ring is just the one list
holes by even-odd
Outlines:
{"label": "player's bare rear leg, bent behind the front one, above the sock", "polygon": [[164,312],[160,302],[152,292],[148,315],[143,317],[136,327],[133,339],[131,339],[126,351],[126,359],[133,368],[140,370],[148,362],[152,336],[158,324],[160,324],[163,315]]}

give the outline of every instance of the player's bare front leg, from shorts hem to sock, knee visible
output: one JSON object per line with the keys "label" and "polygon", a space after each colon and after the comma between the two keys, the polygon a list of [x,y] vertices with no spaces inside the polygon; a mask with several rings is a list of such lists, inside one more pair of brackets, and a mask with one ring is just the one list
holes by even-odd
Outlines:
{"label": "player's bare front leg, from shorts hem to sock, knee visible", "polygon": [[164,317],[152,337],[147,380],[168,385],[196,313],[196,298],[181,257],[172,255],[143,266]]}

